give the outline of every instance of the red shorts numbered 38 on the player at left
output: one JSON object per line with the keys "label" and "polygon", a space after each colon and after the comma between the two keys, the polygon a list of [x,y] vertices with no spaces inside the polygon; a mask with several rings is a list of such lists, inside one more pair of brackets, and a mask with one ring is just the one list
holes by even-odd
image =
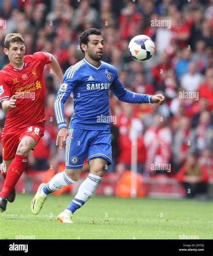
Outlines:
{"label": "red shorts numbered 38 on the player at left", "polygon": [[8,161],[15,157],[18,144],[25,136],[33,138],[37,144],[44,136],[44,130],[45,126],[43,124],[32,125],[14,131],[5,131],[3,128],[1,134],[3,160]]}

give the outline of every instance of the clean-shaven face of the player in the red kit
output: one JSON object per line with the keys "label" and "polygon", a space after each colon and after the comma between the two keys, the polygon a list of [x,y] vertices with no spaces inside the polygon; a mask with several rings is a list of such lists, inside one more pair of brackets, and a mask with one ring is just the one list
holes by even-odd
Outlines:
{"label": "clean-shaven face of the player in the red kit", "polygon": [[22,43],[11,43],[9,50],[5,48],[4,53],[13,66],[19,67],[24,61],[25,46]]}

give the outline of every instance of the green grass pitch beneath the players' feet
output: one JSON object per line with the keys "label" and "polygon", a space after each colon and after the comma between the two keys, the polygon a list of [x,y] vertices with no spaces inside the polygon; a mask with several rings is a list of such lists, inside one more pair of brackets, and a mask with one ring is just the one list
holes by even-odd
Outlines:
{"label": "green grass pitch beneath the players' feet", "polygon": [[74,214],[75,224],[56,220],[72,196],[50,195],[39,215],[34,195],[18,194],[0,214],[0,239],[212,239],[212,202],[94,196]]}

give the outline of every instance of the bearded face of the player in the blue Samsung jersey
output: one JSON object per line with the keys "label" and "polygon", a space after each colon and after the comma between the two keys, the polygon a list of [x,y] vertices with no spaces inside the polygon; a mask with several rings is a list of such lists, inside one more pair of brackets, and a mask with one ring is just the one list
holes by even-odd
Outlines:
{"label": "bearded face of the player in the blue Samsung jersey", "polygon": [[103,56],[103,38],[100,35],[90,35],[87,43],[87,54],[95,61],[99,61]]}

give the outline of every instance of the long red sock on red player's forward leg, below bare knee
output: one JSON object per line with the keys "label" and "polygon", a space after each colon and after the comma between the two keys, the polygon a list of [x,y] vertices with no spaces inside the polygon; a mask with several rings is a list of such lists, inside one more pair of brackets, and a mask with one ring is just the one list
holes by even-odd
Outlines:
{"label": "long red sock on red player's forward leg, below bare knee", "polygon": [[9,193],[15,187],[26,165],[27,156],[16,154],[13,162],[9,165],[9,168],[7,170],[6,179],[4,181],[4,187],[0,193],[0,197],[9,197]]}

